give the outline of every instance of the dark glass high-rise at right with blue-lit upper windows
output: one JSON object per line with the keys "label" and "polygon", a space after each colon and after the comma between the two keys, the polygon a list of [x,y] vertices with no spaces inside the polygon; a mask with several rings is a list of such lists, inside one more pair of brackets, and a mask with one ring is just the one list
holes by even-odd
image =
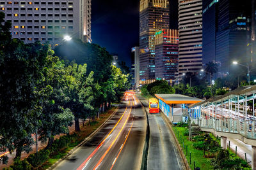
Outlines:
{"label": "dark glass high-rise at right with blue-lit upper windows", "polygon": [[232,61],[250,61],[250,15],[251,2],[220,0],[218,2],[218,29],[216,32],[216,62],[220,76],[229,74]]}

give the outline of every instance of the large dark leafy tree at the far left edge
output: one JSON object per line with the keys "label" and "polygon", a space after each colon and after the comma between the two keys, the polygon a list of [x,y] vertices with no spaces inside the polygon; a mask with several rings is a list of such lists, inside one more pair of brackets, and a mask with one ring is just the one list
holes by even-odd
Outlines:
{"label": "large dark leafy tree at the far left edge", "polygon": [[[1,44],[6,39],[1,39]],[[3,47],[3,46],[2,46]],[[24,45],[12,39],[1,49],[0,62],[0,148],[10,152],[16,149],[15,159],[29,152],[38,127],[36,87],[43,81],[42,70],[47,57],[47,46],[36,42]],[[8,96],[8,97],[7,97]]]}

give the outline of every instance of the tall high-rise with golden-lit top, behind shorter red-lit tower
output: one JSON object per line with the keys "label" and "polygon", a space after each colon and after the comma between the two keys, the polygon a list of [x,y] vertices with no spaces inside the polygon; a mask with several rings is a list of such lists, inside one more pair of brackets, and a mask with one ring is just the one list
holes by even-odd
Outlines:
{"label": "tall high-rise with golden-lit top, behind shorter red-lit tower", "polygon": [[155,79],[155,33],[169,29],[169,13],[168,0],[140,1],[140,80]]}

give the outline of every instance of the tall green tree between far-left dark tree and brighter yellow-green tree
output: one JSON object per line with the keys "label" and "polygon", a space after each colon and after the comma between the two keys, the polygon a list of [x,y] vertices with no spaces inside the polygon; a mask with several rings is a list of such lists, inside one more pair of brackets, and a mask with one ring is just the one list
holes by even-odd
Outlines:
{"label": "tall green tree between far-left dark tree and brighter yellow-green tree", "polygon": [[41,97],[42,114],[38,119],[40,126],[38,133],[40,140],[46,142],[47,148],[52,143],[54,136],[61,133],[68,133],[68,125],[72,125],[74,116],[69,108],[63,108],[69,101],[65,96],[65,70],[64,64],[58,57],[52,57],[52,50],[49,49],[44,69],[44,82],[41,84],[38,96]]}

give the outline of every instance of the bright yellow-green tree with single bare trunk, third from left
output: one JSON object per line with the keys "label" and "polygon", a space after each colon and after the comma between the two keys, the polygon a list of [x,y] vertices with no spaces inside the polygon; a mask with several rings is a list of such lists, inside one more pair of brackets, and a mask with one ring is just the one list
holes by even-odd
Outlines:
{"label": "bright yellow-green tree with single bare trunk, third from left", "polygon": [[86,67],[86,64],[83,66],[73,64],[73,66],[65,67],[67,74],[65,75],[66,85],[63,92],[69,97],[65,108],[69,108],[74,114],[76,131],[80,131],[79,118],[83,118],[87,111],[93,111],[93,72],[87,76]]}

